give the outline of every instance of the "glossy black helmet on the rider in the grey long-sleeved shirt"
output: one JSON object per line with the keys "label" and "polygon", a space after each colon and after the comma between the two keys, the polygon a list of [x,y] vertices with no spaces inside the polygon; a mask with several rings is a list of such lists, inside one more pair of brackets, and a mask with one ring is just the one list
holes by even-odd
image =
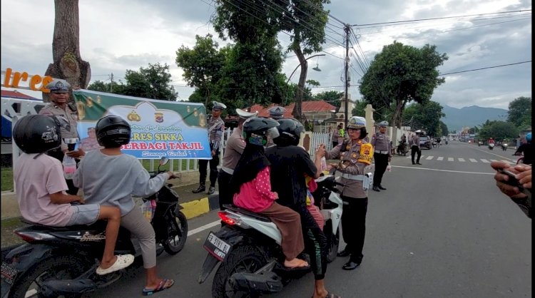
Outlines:
{"label": "glossy black helmet on the rider in the grey long-sleeved shirt", "polygon": [[98,120],[95,126],[98,145],[117,148],[130,143],[130,124],[123,118],[110,115]]}

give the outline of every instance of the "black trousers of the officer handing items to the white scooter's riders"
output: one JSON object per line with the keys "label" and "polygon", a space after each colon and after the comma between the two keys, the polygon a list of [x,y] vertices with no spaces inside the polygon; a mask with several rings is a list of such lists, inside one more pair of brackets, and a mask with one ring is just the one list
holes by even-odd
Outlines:
{"label": "black trousers of the officer handing items to the white scooter's riders", "polygon": [[[345,251],[350,252],[350,260],[360,263],[362,261],[362,247],[366,235],[366,212],[368,210],[368,198],[345,197],[344,210],[342,212],[342,236],[347,243]],[[346,204],[347,202],[347,204]]]}

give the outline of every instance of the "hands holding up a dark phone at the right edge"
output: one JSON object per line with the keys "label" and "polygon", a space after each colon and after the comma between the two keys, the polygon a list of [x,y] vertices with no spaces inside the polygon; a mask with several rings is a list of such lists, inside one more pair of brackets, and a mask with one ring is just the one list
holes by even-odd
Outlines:
{"label": "hands holding up a dark phone at the right edge", "polygon": [[[496,170],[494,180],[499,190],[509,196],[531,218],[531,165],[509,165],[509,163],[493,161],[491,167]],[[502,173],[502,170],[514,176],[509,177],[506,173]]]}

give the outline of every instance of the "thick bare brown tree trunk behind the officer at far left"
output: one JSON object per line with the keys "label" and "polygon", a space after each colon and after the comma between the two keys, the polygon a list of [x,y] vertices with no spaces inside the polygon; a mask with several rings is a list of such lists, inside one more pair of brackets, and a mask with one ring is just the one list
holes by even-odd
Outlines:
{"label": "thick bare brown tree trunk behind the officer at far left", "polygon": [[[54,0],[54,7],[53,63],[49,64],[45,76],[63,78],[72,88],[87,88],[91,81],[91,66],[80,56],[78,0]],[[72,91],[69,93],[69,100],[73,101]],[[48,93],[43,93],[43,101],[50,101]]]}

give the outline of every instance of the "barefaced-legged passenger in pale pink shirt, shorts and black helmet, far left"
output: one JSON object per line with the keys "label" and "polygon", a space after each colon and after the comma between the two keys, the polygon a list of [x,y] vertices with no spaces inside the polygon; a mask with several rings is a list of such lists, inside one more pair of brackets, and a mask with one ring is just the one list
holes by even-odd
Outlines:
{"label": "barefaced-legged passenger in pale pink shirt, shorts and black helmet, far left", "polygon": [[[16,145],[24,152],[15,164],[14,177],[19,208],[24,219],[41,225],[65,227],[91,225],[107,220],[106,242],[96,273],[103,275],[128,267],[133,255],[113,255],[121,224],[118,207],[84,204],[78,195],[68,195],[63,168],[47,153],[59,148],[58,120],[47,115],[26,115],[13,130]],[[81,205],[71,205],[78,202]]]}

